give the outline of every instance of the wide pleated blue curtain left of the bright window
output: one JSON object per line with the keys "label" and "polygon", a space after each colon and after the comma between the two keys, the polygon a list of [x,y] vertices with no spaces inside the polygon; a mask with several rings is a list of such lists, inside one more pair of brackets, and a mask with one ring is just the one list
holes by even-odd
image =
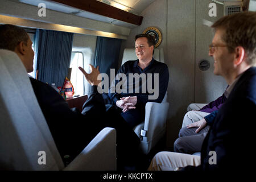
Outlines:
{"label": "wide pleated blue curtain left of the bright window", "polygon": [[73,34],[36,30],[38,80],[63,86],[71,61]]}

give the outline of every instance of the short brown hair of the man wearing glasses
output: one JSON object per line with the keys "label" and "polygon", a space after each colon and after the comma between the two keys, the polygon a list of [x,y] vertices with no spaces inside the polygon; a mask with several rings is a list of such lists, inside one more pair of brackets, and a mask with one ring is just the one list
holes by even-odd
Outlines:
{"label": "short brown hair of the man wearing glasses", "polygon": [[229,52],[242,46],[247,55],[247,63],[256,63],[256,12],[245,11],[227,15],[212,25],[215,30],[223,29],[222,40],[227,44]]}

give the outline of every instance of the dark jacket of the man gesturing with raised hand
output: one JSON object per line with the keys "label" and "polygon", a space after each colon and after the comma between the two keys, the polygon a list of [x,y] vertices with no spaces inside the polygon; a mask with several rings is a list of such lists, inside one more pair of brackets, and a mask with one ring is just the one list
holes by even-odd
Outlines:
{"label": "dark jacket of the man gesturing with raised hand", "polygon": [[[104,101],[94,87],[83,106],[82,113],[69,109],[67,102],[51,86],[30,78],[35,96],[46,118],[61,157],[75,157],[102,129],[97,113],[105,113]],[[97,121],[97,122],[96,122]]]}

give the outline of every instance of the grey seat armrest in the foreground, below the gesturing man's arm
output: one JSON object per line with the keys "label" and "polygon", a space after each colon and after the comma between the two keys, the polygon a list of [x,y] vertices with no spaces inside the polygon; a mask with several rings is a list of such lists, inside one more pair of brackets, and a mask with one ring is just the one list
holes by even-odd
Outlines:
{"label": "grey seat armrest in the foreground, below the gesturing man's arm", "polygon": [[64,170],[115,171],[116,131],[105,127]]}

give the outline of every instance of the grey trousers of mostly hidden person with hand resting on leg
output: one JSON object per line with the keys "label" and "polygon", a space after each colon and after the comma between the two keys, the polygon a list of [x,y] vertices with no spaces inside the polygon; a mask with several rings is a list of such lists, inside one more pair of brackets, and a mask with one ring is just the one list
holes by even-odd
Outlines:
{"label": "grey trousers of mostly hidden person with hand resting on leg", "polygon": [[204,138],[207,135],[210,127],[206,126],[199,133],[196,133],[197,127],[187,129],[185,126],[203,119],[208,114],[209,113],[201,111],[189,111],[187,114],[185,114],[183,119],[183,127],[179,132],[179,138],[177,138],[174,142],[175,152],[193,154],[201,151]]}

